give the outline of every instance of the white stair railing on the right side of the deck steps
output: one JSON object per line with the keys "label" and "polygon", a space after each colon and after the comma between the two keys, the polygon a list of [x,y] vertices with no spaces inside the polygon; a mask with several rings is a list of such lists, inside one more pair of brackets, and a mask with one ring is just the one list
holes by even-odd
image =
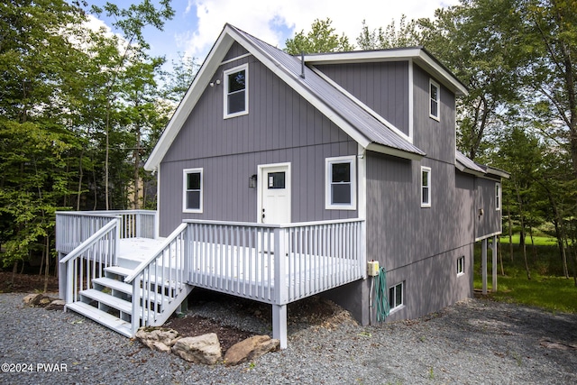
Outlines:
{"label": "white stair railing on the right side of the deck steps", "polygon": [[186,237],[187,225],[181,224],[158,252],[124,279],[133,285],[133,335],[140,326],[164,324],[187,298],[191,288],[185,273]]}

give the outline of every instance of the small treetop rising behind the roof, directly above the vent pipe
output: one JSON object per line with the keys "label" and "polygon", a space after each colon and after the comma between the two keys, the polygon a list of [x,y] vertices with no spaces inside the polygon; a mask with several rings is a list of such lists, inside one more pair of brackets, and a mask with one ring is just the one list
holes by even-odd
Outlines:
{"label": "small treetop rising behind the roof, directly above the vent pipe", "polygon": [[333,21],[316,19],[307,34],[302,30],[294,38],[285,41],[285,51],[291,55],[300,53],[343,52],[354,50],[344,33],[340,36],[334,32]]}

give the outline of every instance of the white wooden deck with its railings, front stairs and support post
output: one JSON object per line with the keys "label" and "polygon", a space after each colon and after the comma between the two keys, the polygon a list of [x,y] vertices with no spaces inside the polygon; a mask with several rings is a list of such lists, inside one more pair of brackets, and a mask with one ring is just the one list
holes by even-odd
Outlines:
{"label": "white wooden deck with its railings, front stairs and support post", "polygon": [[[87,215],[87,221],[95,222],[95,215]],[[201,287],[272,305],[273,336],[284,348],[288,303],[366,275],[362,220],[289,225],[187,221],[169,237],[158,238],[151,236],[150,225],[142,231],[138,219],[129,221],[126,232],[123,214],[117,213],[103,214],[98,224],[105,225],[97,230],[83,225],[94,234],[67,233],[67,226],[82,224],[81,217],[57,215],[64,277],[60,296],[70,309],[108,327],[119,325],[116,330],[124,335],[135,334],[142,325],[162,325],[193,287]],[[67,235],[59,237],[60,232]],[[87,310],[89,305],[95,314]]]}

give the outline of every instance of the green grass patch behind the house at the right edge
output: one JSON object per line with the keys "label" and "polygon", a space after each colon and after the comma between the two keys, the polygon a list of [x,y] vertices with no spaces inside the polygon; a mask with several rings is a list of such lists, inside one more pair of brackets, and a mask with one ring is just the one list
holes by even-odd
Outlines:
{"label": "green grass patch behind the house at the right edge", "polygon": [[[545,237],[541,237],[545,238]],[[501,240],[503,242],[503,240]],[[549,244],[549,245],[547,245]],[[536,257],[530,245],[527,245],[527,262],[531,272],[531,280],[527,280],[525,261],[518,244],[514,245],[513,261],[510,260],[507,243],[503,247],[503,267],[505,275],[500,275],[500,263],[497,268],[496,293],[490,293],[490,298],[498,301],[517,303],[534,307],[542,307],[553,313],[577,314],[577,287],[572,279],[572,263],[568,261],[570,278],[563,277],[563,266],[557,247],[550,241],[536,246]],[[553,242],[554,244],[554,242]],[[488,289],[491,289],[491,255],[488,252]],[[475,248],[474,288],[482,288],[481,280],[481,247]]]}

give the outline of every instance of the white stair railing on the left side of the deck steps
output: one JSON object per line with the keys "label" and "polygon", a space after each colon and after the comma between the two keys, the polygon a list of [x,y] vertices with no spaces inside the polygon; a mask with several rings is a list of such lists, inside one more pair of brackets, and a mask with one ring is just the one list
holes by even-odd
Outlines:
{"label": "white stair railing on the left side of the deck steps", "polygon": [[120,219],[108,218],[108,221],[60,260],[59,274],[66,277],[64,299],[67,304],[76,302],[79,291],[91,289],[91,281],[103,277],[105,268],[116,264]]}

